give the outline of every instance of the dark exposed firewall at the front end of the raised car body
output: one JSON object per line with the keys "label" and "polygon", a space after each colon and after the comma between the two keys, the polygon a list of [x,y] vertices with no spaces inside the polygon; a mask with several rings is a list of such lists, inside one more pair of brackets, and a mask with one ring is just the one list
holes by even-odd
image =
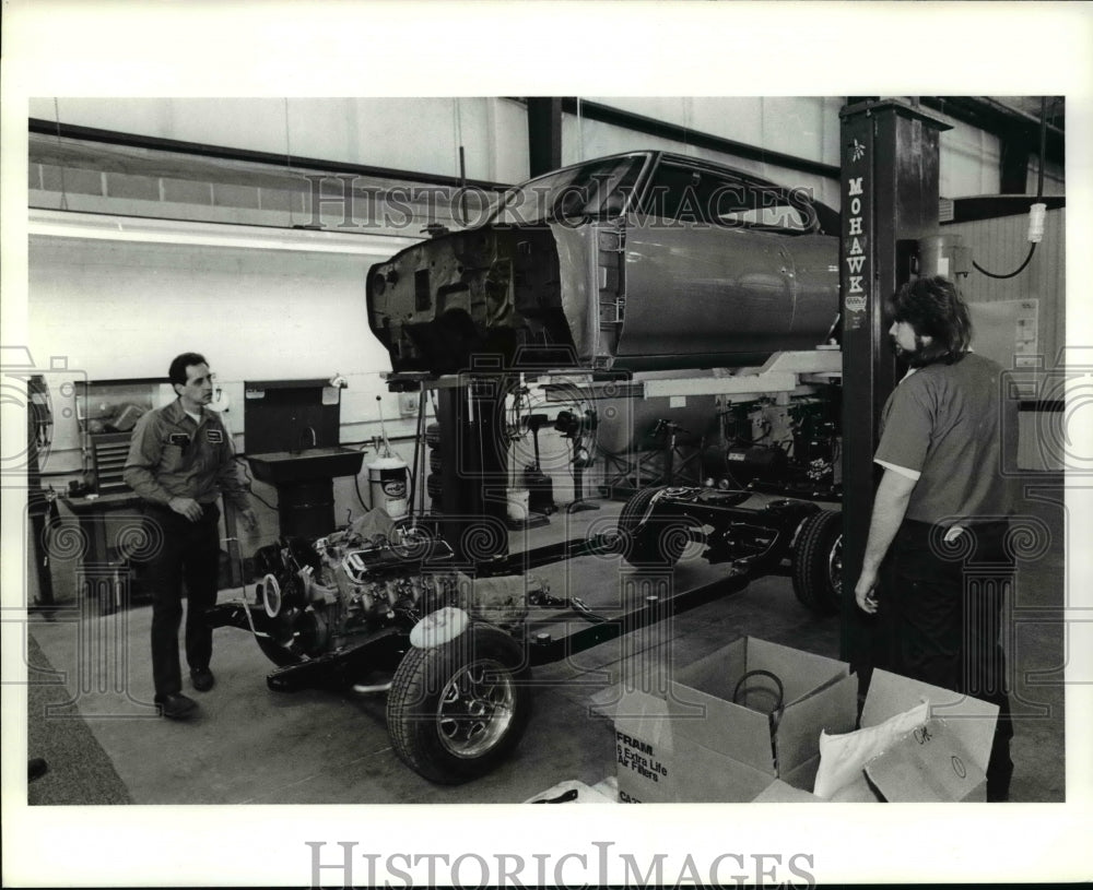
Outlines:
{"label": "dark exposed firewall at the front end of the raised car body", "polygon": [[374,265],[368,323],[396,371],[456,373],[572,355],[557,249],[546,227],[484,227],[414,245]]}

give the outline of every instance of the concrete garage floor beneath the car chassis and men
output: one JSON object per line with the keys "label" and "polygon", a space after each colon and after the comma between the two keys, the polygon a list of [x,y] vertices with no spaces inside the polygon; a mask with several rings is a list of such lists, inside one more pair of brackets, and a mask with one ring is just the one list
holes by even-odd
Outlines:
{"label": "concrete garage floor beneath the car chassis and men", "polygon": [[[1012,799],[1065,799],[1062,685],[1063,600],[1061,488],[1045,479],[1029,512],[1051,530],[1046,549],[1021,563],[1013,621],[1016,770]],[[612,523],[621,505],[514,535],[514,549],[576,537]],[[566,522],[568,521],[568,526]],[[593,608],[618,605],[633,570],[618,558],[585,557],[539,570],[555,592]],[[724,577],[721,567],[684,560],[678,590]],[[55,620],[32,615],[27,663],[32,683],[30,755],[49,773],[28,786],[28,803],[48,804],[357,804],[519,803],[564,780],[595,785],[614,772],[610,724],[591,697],[622,678],[624,653],[655,643],[689,664],[740,636],[828,657],[838,656],[837,617],[818,618],[795,598],[788,579],[769,577],[660,626],[540,668],[534,712],[514,756],[492,774],[458,787],[438,786],[407,769],[391,749],[383,698],[352,692],[271,692],[270,663],[245,632],[214,638],[216,687],[192,693],[200,715],[175,723],[154,715],[148,660],[151,609],[81,614],[58,598]],[[246,591],[252,596],[252,588]],[[239,595],[222,591],[220,601]],[[188,690],[186,690],[188,691]]]}

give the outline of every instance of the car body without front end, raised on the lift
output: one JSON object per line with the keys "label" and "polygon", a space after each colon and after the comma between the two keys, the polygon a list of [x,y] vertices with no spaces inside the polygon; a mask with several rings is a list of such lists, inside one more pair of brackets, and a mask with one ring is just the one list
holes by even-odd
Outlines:
{"label": "car body without front end, raised on the lift", "polygon": [[372,266],[396,372],[734,367],[824,342],[838,216],[806,189],[682,155],[583,162],[505,192],[482,225]]}

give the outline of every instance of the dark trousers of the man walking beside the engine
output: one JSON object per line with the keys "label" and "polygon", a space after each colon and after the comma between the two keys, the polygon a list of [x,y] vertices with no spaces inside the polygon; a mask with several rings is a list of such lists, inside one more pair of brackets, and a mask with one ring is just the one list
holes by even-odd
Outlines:
{"label": "dark trousers of the man walking beside the engine", "polygon": [[149,558],[145,580],[152,592],[152,677],[155,695],[181,691],[178,629],[183,620],[183,581],[186,582],[186,661],[190,668],[208,667],[212,657],[212,628],[205,609],[216,605],[220,575],[220,510],[204,505],[204,515],[190,522],[168,507],[145,506],[144,521],[160,546]]}

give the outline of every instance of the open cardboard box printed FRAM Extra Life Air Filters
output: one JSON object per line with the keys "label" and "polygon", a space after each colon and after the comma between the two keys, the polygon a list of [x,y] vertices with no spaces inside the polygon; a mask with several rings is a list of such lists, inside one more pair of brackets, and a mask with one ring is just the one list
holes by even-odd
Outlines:
{"label": "open cardboard box printed FRAM Extra Life Air Filters", "polygon": [[[766,711],[732,701],[751,671],[781,680],[776,725]],[[620,799],[748,802],[775,779],[811,791],[820,731],[850,732],[856,713],[857,678],[845,663],[755,638],[736,640],[677,672],[663,697],[622,692],[614,708]]]}

